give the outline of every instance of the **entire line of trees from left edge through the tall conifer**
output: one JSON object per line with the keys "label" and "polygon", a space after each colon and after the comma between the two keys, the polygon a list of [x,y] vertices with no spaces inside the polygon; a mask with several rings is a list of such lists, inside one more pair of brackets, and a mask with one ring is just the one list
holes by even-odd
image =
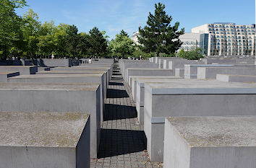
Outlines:
{"label": "entire line of trees from left edge through the tall conifer", "polygon": [[25,0],[0,1],[0,56],[38,58],[65,56],[72,58],[119,56],[151,57],[175,56],[182,42],[179,22],[171,26],[172,17],[165,5],[155,4],[155,13],[149,13],[145,27],[139,27],[141,45],[135,45],[127,32],[121,30],[114,40],[108,41],[106,32],[94,27],[88,33],[80,32],[74,25],[54,25],[54,21],[41,23],[38,14],[30,9],[23,17],[15,9],[27,5]]}

